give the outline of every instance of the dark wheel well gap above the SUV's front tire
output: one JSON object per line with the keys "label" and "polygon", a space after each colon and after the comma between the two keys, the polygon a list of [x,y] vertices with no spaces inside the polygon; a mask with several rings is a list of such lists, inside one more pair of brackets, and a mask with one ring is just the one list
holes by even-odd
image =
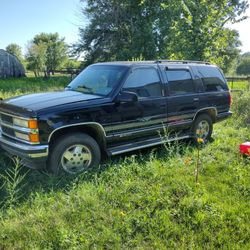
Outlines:
{"label": "dark wheel well gap above the SUV's front tire", "polygon": [[49,139],[49,144],[52,145],[60,136],[76,132],[82,132],[91,136],[96,140],[101,150],[106,147],[104,131],[102,131],[102,129],[97,125],[72,126],[58,129],[52,133],[51,138]]}

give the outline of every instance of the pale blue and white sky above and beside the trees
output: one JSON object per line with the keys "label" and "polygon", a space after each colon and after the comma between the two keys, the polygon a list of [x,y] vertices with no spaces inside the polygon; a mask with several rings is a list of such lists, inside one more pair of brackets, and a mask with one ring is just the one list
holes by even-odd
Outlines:
{"label": "pale blue and white sky above and beside the trees", "polygon": [[[250,4],[250,0],[249,4]],[[10,43],[23,48],[41,33],[58,32],[68,44],[78,40],[78,27],[84,23],[80,17],[80,0],[0,0],[0,49]],[[230,25],[239,31],[241,51],[250,52],[250,9],[248,19]]]}

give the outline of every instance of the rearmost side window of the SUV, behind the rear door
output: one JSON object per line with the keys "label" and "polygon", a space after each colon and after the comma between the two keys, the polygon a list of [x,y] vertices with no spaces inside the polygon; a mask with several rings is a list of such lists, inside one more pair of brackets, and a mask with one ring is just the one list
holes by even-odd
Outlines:
{"label": "rearmost side window of the SUV, behind the rear door", "polygon": [[199,77],[202,79],[205,91],[224,91],[228,90],[225,79],[216,67],[211,66],[198,66]]}

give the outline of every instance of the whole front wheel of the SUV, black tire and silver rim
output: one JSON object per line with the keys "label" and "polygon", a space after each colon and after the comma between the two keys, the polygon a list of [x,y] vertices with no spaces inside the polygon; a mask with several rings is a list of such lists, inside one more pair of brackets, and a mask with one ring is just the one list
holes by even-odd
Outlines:
{"label": "whole front wheel of the SUV, black tire and silver rim", "polygon": [[49,155],[47,169],[55,175],[61,172],[78,174],[99,165],[101,151],[97,142],[84,133],[58,138]]}

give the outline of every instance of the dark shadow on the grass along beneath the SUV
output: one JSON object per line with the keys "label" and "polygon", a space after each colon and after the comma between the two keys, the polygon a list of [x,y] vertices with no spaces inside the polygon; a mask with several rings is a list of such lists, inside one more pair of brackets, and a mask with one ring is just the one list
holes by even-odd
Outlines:
{"label": "dark shadow on the grass along beneath the SUV", "polygon": [[[17,204],[25,202],[32,194],[35,193],[50,193],[50,192],[69,192],[73,185],[77,185],[83,182],[93,182],[99,178],[104,171],[109,168],[115,168],[121,165],[125,160],[129,164],[130,161],[136,160],[138,164],[144,164],[149,161],[150,158],[155,157],[162,161],[167,161],[173,156],[182,156],[185,152],[192,152],[196,148],[196,145],[190,140],[183,140],[181,142],[172,142],[161,146],[154,146],[145,148],[129,153],[122,154],[120,156],[104,157],[100,166],[91,171],[86,171],[78,175],[61,174],[54,176],[45,170],[32,170],[26,167],[22,167],[20,175],[25,175],[22,183],[20,198]],[[0,174],[5,175],[8,168],[13,168],[14,162],[7,156],[0,155]],[[2,186],[2,188],[1,188]],[[19,187],[16,187],[19,188]],[[3,180],[0,178],[0,204],[4,203],[6,198],[6,192],[3,186]]]}

